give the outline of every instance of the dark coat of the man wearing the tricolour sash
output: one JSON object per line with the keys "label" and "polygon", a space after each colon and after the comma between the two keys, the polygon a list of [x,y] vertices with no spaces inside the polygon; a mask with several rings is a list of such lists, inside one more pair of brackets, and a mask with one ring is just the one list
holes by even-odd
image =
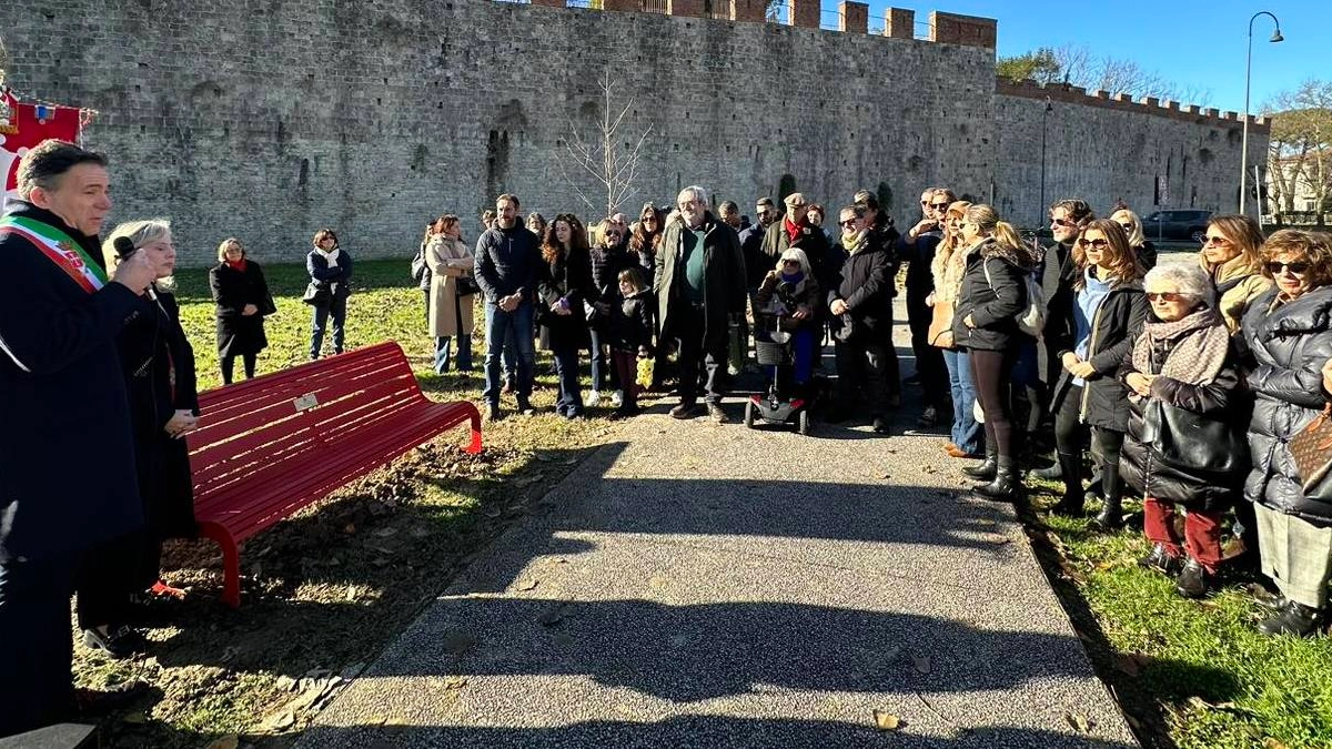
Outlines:
{"label": "dark coat of the man wearing the tricolour sash", "polygon": [[[100,265],[97,237],[23,201]],[[79,554],[143,525],[116,335],[139,297],[88,293],[27,239],[0,233],[0,564]]]}

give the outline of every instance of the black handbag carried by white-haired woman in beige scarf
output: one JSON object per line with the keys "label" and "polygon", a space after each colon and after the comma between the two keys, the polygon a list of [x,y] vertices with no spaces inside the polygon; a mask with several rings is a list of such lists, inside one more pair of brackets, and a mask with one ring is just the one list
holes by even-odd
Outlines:
{"label": "black handbag carried by white-haired woman in beige scarf", "polygon": [[1244,430],[1159,398],[1148,400],[1143,412],[1143,444],[1162,464],[1192,474],[1233,476],[1248,470]]}

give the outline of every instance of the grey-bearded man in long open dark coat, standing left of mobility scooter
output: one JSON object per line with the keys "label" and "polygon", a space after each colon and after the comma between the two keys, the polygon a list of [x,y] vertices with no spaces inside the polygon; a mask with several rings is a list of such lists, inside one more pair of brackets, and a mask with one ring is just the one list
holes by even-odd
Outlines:
{"label": "grey-bearded man in long open dark coat, standing left of mobility scooter", "polygon": [[679,341],[679,405],[675,418],[698,416],[698,381],[706,376],[707,413],[726,421],[722,382],[726,376],[729,325],[745,313],[745,259],[735,231],[707,209],[707,192],[687,187],[675,197],[678,213],[666,223],[657,251],[658,313],[663,339]]}

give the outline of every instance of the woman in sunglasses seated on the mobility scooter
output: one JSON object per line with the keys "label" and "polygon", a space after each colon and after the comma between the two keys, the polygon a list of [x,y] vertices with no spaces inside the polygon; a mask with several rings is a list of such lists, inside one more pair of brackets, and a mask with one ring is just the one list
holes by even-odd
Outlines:
{"label": "woman in sunglasses seated on the mobility scooter", "polygon": [[803,249],[791,247],[782,252],[777,267],[763,276],[754,295],[759,324],[755,336],[763,340],[781,325],[791,333],[791,382],[801,388],[814,376],[814,352],[818,345],[814,308],[819,300],[819,283],[814,279],[810,259]]}

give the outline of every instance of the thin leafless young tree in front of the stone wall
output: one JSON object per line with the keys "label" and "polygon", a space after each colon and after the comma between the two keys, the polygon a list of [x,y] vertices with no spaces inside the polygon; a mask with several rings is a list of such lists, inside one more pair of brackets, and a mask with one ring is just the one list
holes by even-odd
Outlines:
{"label": "thin leafless young tree in front of the stone wall", "polygon": [[[602,92],[602,109],[601,121],[597,123],[595,132],[591,137],[583,137],[573,119],[570,119],[570,135],[565,141],[565,148],[569,149],[569,155],[583,172],[591,175],[601,187],[606,188],[606,212],[603,216],[610,216],[634,195],[634,179],[638,176],[639,156],[642,156],[647,136],[653,132],[653,123],[647,123],[647,128],[638,136],[637,141],[622,141],[623,133],[621,132],[621,125],[625,124],[625,116],[633,109],[634,99],[630,97],[625,103],[625,107],[619,109],[619,113],[613,115],[614,103],[611,97],[610,71],[606,71],[606,75],[597,84]],[[593,211],[602,208],[593,203],[587,192],[578,187],[571,175],[566,173],[565,179],[569,180],[569,185],[574,188],[574,192],[578,193],[578,197],[589,208]]]}

